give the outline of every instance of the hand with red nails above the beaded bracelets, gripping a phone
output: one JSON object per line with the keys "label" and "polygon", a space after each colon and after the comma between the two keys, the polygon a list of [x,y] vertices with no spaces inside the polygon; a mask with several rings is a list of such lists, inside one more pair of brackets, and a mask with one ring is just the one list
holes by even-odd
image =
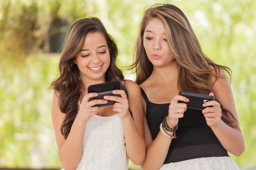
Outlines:
{"label": "hand with red nails above the beaded bracelets, gripping a phone", "polygon": [[184,112],[187,110],[186,103],[178,103],[178,101],[189,102],[190,100],[184,96],[176,95],[169,105],[167,124],[170,128],[174,128],[178,124],[178,119],[183,118]]}

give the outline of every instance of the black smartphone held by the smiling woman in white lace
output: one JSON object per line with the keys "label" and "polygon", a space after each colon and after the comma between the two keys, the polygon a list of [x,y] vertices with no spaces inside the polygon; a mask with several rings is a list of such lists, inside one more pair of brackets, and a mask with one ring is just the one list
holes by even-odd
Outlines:
{"label": "black smartphone held by the smiling woman in white lace", "polygon": [[[90,85],[88,87],[88,93],[98,93],[98,96],[92,97],[89,99],[89,101],[95,100],[95,99],[103,99],[104,96],[119,96],[117,94],[113,94],[113,90],[120,90],[121,85],[120,82],[107,82],[107,83],[101,83],[97,85]],[[96,104],[95,106],[103,107],[108,105],[113,105],[115,101],[108,101],[106,104]]]}

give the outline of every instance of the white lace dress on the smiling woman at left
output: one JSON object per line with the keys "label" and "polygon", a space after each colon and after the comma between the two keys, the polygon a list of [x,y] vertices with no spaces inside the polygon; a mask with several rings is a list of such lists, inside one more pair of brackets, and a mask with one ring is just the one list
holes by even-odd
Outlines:
{"label": "white lace dress on the smiling woman at left", "polygon": [[94,115],[87,123],[77,170],[128,170],[121,119]]}

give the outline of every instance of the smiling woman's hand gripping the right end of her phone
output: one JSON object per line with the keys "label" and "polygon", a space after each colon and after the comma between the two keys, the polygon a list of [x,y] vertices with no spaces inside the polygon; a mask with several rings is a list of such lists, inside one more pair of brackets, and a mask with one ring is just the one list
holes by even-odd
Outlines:
{"label": "smiling woman's hand gripping the right end of her phone", "polygon": [[113,94],[119,94],[118,96],[104,96],[105,100],[115,101],[113,105],[113,111],[118,112],[118,115],[121,119],[129,116],[129,103],[124,90],[113,90]]}

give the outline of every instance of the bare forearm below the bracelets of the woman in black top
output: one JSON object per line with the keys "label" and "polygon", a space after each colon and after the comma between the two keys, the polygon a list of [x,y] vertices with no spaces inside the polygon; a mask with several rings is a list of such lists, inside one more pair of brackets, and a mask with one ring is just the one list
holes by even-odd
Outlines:
{"label": "bare forearm below the bracelets of the woman in black top", "polygon": [[[173,135],[172,133],[168,133]],[[158,170],[164,163],[172,139],[163,136],[159,131],[158,136],[147,148],[146,158],[142,164],[143,170]]]}

